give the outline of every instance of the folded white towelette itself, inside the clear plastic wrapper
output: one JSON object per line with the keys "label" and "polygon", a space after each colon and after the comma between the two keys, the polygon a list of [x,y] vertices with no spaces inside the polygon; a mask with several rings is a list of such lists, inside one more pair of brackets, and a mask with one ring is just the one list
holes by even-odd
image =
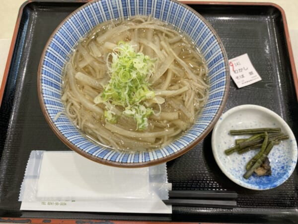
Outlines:
{"label": "folded white towelette itself, inside the clear plastic wrapper", "polygon": [[45,152],[43,155],[37,198],[90,201],[147,198],[148,195],[148,167],[110,167],[73,152]]}

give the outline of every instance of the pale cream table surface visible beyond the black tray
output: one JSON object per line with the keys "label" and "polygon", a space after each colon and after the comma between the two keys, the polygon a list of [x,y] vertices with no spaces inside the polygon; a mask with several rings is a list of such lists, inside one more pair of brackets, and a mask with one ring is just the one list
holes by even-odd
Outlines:
{"label": "pale cream table surface visible beyond the black tray", "polygon": [[[191,0],[189,0],[191,1]],[[230,0],[201,0],[201,1],[230,1]],[[234,0],[248,2],[248,0]],[[264,2],[264,0],[250,0],[250,2]],[[6,64],[7,54],[18,14],[24,0],[0,0],[0,84]],[[298,71],[298,0],[271,0],[280,5],[286,12],[292,49]]]}

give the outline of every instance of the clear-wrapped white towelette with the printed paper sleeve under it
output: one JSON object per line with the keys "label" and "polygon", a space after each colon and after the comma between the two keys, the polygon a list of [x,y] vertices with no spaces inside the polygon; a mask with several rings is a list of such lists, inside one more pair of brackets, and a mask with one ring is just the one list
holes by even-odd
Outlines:
{"label": "clear-wrapped white towelette with the printed paper sleeve under it", "polygon": [[20,190],[21,210],[171,213],[165,164],[117,168],[72,151],[32,151]]}

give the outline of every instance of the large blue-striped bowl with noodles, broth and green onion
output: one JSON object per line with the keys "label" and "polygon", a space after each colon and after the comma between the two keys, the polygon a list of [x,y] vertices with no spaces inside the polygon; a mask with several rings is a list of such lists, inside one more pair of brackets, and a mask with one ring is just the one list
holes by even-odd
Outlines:
{"label": "large blue-striped bowl with noodles, broth and green onion", "polygon": [[45,46],[39,101],[75,152],[120,167],[172,160],[212,130],[229,71],[223,44],[175,0],[96,0]]}

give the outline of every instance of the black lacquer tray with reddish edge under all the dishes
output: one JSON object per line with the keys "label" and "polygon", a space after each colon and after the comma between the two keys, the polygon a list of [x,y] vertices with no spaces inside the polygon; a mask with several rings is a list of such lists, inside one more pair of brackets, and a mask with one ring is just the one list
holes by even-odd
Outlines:
{"label": "black lacquer tray with reddish edge under all the dishes", "polygon": [[[172,216],[20,211],[19,189],[31,150],[70,150],[56,137],[41,112],[37,70],[49,36],[83,3],[32,1],[21,7],[0,91],[0,217],[9,217],[10,221],[43,218],[297,223],[298,169],[275,189],[242,188],[216,164],[211,133],[188,153],[167,163],[168,179],[173,190],[236,191],[235,209],[173,207]],[[262,81],[241,89],[231,81],[224,111],[242,104],[266,107],[281,115],[298,136],[297,74],[283,10],[270,3],[192,2],[190,6],[218,32],[228,58],[247,53],[262,77]]]}

